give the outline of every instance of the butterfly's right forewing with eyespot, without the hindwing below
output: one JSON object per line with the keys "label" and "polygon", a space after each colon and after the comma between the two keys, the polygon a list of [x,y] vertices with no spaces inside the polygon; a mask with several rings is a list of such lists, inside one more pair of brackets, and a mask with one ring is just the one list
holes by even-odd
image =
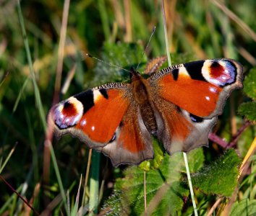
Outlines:
{"label": "butterfly's right forewing with eyespot, without the hindwing below", "polygon": [[161,98],[198,117],[222,113],[230,92],[242,88],[242,66],[235,60],[199,60],[165,68],[150,81]]}

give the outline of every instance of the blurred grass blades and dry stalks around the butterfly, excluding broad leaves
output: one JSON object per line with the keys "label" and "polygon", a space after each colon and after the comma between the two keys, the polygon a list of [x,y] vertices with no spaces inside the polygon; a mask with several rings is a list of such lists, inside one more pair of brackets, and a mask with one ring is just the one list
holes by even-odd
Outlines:
{"label": "blurred grass blades and dry stalks around the butterfly, excluding broad leaves", "polygon": [[[85,179],[82,178],[77,207],[75,200],[80,174],[85,176],[89,150],[69,136],[55,140],[46,126],[46,113],[54,98],[60,96],[60,99],[65,99],[82,91],[85,86],[93,87],[93,77],[98,76],[93,71],[97,62],[91,58],[81,60],[81,51],[101,57],[106,42],[136,42],[144,46],[153,26],[156,26],[147,55],[152,58],[166,53],[160,1],[124,2],[71,1],[66,7],[63,1],[48,0],[21,1],[20,6],[16,1],[0,3],[0,28],[3,32],[0,36],[0,173],[39,213],[50,210],[56,215],[60,212],[75,215],[80,211],[86,215],[91,214],[88,212],[91,206],[95,206],[94,212],[101,212],[101,207],[113,192],[116,179],[124,177],[126,166],[113,168],[106,157],[99,155],[101,160],[96,158],[92,161],[85,188]],[[244,65],[245,75],[254,66],[255,1],[232,1],[232,4],[165,1],[165,7],[169,47],[171,53],[179,55],[177,59],[182,60],[184,53],[192,59],[235,58]],[[65,21],[62,17],[65,16],[67,31],[63,29]],[[177,63],[175,58],[174,63]],[[60,89],[74,65],[74,78],[67,93],[62,95]],[[114,70],[109,67],[108,71]],[[101,78],[98,80],[101,82]],[[234,127],[244,124],[241,116],[236,112],[229,114],[229,111],[236,111],[244,100],[244,96],[236,91],[234,102],[226,106],[221,117],[218,135],[228,141],[232,140],[232,128],[234,130]],[[242,153],[242,159],[254,136],[255,127],[250,125],[239,138],[235,148]],[[51,142],[53,149],[48,148]],[[204,148],[206,164],[223,153],[218,145],[213,143],[210,146]],[[254,161],[255,158],[249,161],[249,169],[249,163],[243,166],[245,172],[240,177],[239,200],[255,200],[250,195],[255,194]],[[31,214],[31,210],[17,199],[9,187],[0,182],[0,214]],[[105,182],[102,190],[99,189],[101,182]],[[95,202],[90,204],[93,200],[90,193],[102,197],[101,200],[95,198]],[[195,197],[201,213],[213,207],[218,200],[214,194],[205,196],[198,190]],[[82,200],[85,205],[79,209]],[[149,197],[147,201],[150,203]],[[191,206],[191,200],[187,201],[179,215],[189,214]],[[216,207],[221,209],[221,204],[216,204]]]}

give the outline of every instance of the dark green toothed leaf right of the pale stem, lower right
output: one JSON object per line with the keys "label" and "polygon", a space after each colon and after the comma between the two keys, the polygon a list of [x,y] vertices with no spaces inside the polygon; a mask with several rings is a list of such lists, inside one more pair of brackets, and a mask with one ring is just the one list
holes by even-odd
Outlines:
{"label": "dark green toothed leaf right of the pale stem, lower right", "polygon": [[240,158],[234,150],[228,150],[221,158],[204,166],[197,174],[192,175],[193,186],[206,194],[231,196],[238,184]]}

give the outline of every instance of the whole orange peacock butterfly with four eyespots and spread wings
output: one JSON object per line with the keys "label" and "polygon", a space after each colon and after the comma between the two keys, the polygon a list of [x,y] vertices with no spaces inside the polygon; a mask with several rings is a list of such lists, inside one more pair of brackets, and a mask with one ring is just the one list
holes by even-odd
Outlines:
{"label": "whole orange peacock butterfly with four eyespots and spread wings", "polygon": [[109,83],[56,104],[49,112],[57,137],[71,134],[111,158],[114,166],[154,157],[153,136],[168,154],[208,146],[208,134],[232,90],[242,88],[242,65],[221,58],[163,68],[130,83]]}

